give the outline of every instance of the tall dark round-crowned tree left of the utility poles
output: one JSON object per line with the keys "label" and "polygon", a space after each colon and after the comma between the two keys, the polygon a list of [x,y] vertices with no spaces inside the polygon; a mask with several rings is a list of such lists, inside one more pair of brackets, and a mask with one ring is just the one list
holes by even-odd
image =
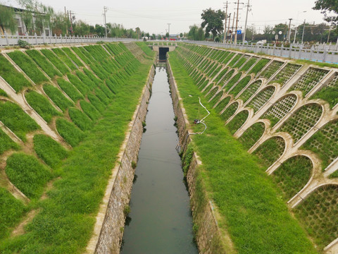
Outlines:
{"label": "tall dark round-crowned tree left of the utility poles", "polygon": [[223,31],[224,11],[215,11],[208,8],[201,13],[201,18],[204,20],[201,23],[201,27],[206,28],[206,37],[208,37],[211,32],[213,34],[213,40],[215,40],[215,36]]}

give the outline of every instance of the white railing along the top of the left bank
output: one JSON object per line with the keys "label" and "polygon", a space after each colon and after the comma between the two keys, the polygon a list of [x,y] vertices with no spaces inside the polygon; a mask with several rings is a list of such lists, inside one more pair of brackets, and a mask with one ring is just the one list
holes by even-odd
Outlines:
{"label": "white railing along the top of the left bank", "polygon": [[142,40],[130,38],[110,38],[97,36],[37,36],[37,35],[0,35],[0,46],[18,45],[23,40],[32,45],[38,44],[69,44],[69,43],[93,43],[93,42],[137,42]]}

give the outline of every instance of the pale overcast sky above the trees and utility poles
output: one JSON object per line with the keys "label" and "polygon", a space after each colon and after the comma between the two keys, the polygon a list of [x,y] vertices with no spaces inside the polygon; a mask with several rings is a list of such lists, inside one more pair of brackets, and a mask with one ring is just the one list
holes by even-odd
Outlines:
{"label": "pale overcast sky above the trees and utility poles", "polygon": [[[1,1],[1,0],[0,0]],[[73,11],[77,20],[84,20],[89,24],[104,24],[102,15],[104,6],[108,7],[106,13],[107,23],[123,24],[125,28],[141,28],[150,34],[165,34],[170,25],[170,34],[188,32],[189,25],[201,24],[201,12],[206,8],[224,8],[222,1],[215,0],[40,0],[42,4],[52,6],[55,11],[64,8]],[[237,4],[228,1],[228,10],[234,14]],[[240,0],[242,10],[239,11],[239,27],[244,28],[246,16],[246,3]],[[18,6],[15,0],[2,0],[5,4]],[[226,1],[224,1],[226,2]],[[307,22],[322,23],[323,14],[313,11],[315,0],[250,0],[251,11],[248,16],[248,25],[255,25],[256,31],[262,31],[265,25],[289,23],[299,25],[306,19]],[[306,11],[306,13],[303,13]]]}

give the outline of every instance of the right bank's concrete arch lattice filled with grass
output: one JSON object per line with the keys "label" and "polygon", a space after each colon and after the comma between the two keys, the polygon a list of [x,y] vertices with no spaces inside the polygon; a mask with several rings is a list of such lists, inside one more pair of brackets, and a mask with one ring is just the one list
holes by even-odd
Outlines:
{"label": "right bank's concrete arch lattice filled with grass", "polygon": [[[222,49],[216,57],[215,49],[205,47],[200,48],[206,57],[196,65],[188,59],[198,48],[182,44],[178,54],[191,70],[202,73],[210,71],[210,63],[223,65],[218,73],[221,77],[215,75],[215,84],[213,79],[204,81],[205,85],[199,83],[211,107],[220,113],[234,137],[261,157],[289,207],[318,239],[318,246],[337,253],[338,226],[332,224],[338,220],[337,70]],[[208,58],[210,52],[213,59]],[[266,59],[265,66],[260,66],[257,74],[251,73],[251,79],[239,73],[250,73],[261,59]],[[311,219],[306,217],[309,212]]]}

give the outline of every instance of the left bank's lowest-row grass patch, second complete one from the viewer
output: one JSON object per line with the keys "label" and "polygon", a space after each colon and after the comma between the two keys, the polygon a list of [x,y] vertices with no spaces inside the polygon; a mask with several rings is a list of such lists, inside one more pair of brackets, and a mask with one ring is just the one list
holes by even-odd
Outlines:
{"label": "left bank's lowest-row grass patch, second complete one from the viewer", "polygon": [[46,162],[46,164],[52,169],[56,169],[61,160],[68,157],[67,150],[47,135],[35,135],[33,143],[37,156]]}

